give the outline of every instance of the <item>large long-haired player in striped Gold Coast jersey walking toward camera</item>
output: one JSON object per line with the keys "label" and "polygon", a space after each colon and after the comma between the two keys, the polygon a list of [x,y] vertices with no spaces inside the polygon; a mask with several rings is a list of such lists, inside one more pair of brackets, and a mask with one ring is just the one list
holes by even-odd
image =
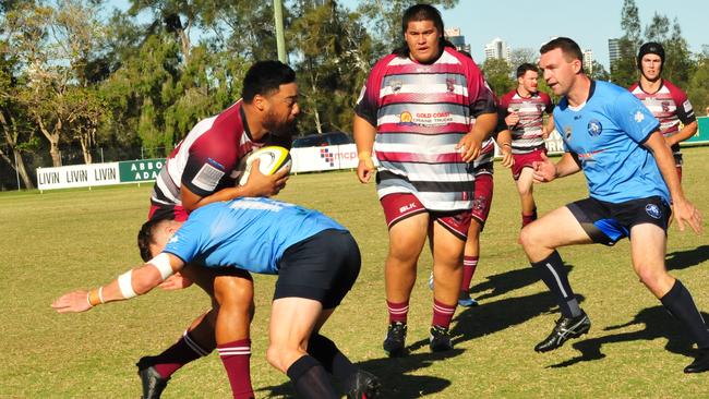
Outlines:
{"label": "large long-haired player in striped Gold Coast jersey walking toward camera", "polygon": [[492,92],[478,65],[445,40],[434,7],[407,9],[401,34],[401,47],[370,72],[353,121],[359,181],[374,176],[373,150],[380,164],[376,190],[389,228],[383,347],[390,356],[406,353],[409,300],[426,237],[435,275],[429,347],[453,348],[448,327],[458,304],[474,181],[468,162],[496,124]]}

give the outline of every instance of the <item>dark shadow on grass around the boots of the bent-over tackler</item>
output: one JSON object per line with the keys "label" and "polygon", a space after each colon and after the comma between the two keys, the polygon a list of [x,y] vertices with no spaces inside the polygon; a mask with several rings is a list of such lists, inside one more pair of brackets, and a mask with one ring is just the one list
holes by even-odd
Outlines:
{"label": "dark shadow on grass around the boots of the bent-over tackler", "polygon": [[[428,375],[410,375],[407,373],[425,368],[433,362],[454,358],[462,353],[454,349],[443,353],[413,353],[404,358],[380,358],[360,362],[360,368],[376,375],[382,382],[382,398],[420,398],[423,395],[436,394],[450,385],[450,380]],[[336,382],[334,382],[336,384]],[[336,385],[337,386],[337,385]],[[296,398],[290,382],[277,386],[259,389],[266,391],[267,398]],[[341,391],[341,389],[340,389]]]}

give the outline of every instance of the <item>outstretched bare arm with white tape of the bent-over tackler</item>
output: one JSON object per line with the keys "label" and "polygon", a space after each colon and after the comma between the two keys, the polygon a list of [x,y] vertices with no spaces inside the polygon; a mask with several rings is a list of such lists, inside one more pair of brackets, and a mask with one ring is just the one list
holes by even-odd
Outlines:
{"label": "outstretched bare arm with white tape of the bent-over tackler", "polygon": [[142,295],[182,269],[184,263],[171,254],[159,254],[143,266],[128,270],[106,286],[76,290],[59,297],[51,307],[59,313],[86,312],[96,305]]}

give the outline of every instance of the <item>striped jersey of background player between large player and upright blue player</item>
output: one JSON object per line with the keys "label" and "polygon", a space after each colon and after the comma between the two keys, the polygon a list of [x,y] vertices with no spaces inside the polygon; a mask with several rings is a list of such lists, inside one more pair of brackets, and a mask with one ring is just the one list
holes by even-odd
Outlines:
{"label": "striped jersey of background player between large player and upright blue player", "polygon": [[512,153],[528,154],[544,147],[542,128],[544,112],[552,113],[554,105],[546,93],[537,92],[530,97],[522,97],[514,89],[500,98],[497,106],[497,130],[508,129],[505,118],[516,112],[519,122],[512,126]]}

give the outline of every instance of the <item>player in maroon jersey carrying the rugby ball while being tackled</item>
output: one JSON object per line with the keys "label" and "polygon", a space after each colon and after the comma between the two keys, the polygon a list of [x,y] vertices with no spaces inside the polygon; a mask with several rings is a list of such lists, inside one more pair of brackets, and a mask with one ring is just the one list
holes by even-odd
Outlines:
{"label": "player in maroon jersey carrying the rugby ball while being tackled", "polygon": [[[192,210],[214,202],[277,194],[286,184],[287,171],[264,176],[255,167],[244,185],[237,186],[236,182],[252,149],[272,144],[290,147],[299,111],[296,73],[278,61],[254,63],[244,77],[242,99],[200,121],[170,154],[155,182],[148,219],[181,221]],[[144,398],[159,398],[176,371],[215,348],[233,397],[254,397],[249,373],[253,280],[247,271],[208,275],[211,280],[197,285],[218,305],[197,317],[163,353],[140,360]],[[172,276],[161,287],[180,289],[189,285],[191,281]]]}

